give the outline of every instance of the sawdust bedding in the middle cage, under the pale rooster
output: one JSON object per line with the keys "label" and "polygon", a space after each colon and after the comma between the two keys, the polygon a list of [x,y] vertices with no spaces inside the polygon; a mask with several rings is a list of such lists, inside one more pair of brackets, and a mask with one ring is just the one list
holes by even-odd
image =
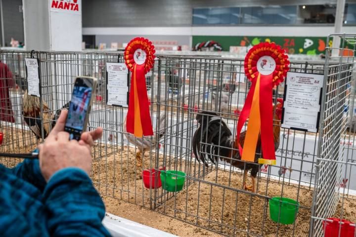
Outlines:
{"label": "sawdust bedding in the middle cage, under the pale rooster", "polygon": [[[122,150],[120,149],[122,148]],[[100,150],[100,149],[98,149]],[[105,148],[102,147],[101,154],[105,153]],[[97,190],[104,195],[110,197],[120,197],[123,200],[137,203],[143,206],[150,204],[151,190],[143,186],[140,176],[142,169],[155,167],[156,153],[146,153],[143,158],[143,166],[137,167],[135,158],[135,149],[128,146],[119,146],[109,148],[107,153],[110,156],[95,158],[92,163],[92,180]],[[175,160],[174,157],[159,154],[157,167],[163,167],[165,160],[165,169],[181,170],[188,172],[189,170],[199,170],[199,164],[187,164],[185,160]]]}

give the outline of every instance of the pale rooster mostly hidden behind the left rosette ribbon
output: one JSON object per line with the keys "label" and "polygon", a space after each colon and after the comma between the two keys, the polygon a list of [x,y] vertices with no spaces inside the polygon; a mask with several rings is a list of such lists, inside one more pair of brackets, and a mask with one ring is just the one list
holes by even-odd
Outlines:
{"label": "pale rooster mostly hidden behind the left rosette ribbon", "polygon": [[[137,147],[137,152],[136,152],[136,167],[141,168],[142,167],[142,157],[144,157],[145,152],[150,151],[153,149],[156,145],[156,142],[159,141],[163,135],[165,134],[165,128],[167,127],[167,119],[164,113],[161,114],[160,116],[160,121],[158,125],[158,138],[156,138],[156,134],[153,134],[152,139],[149,137],[135,137],[134,135],[128,133],[126,131],[126,119],[127,116],[124,120],[123,124],[123,131],[128,139],[128,141],[132,144],[134,144]],[[157,139],[157,140],[156,140]]]}

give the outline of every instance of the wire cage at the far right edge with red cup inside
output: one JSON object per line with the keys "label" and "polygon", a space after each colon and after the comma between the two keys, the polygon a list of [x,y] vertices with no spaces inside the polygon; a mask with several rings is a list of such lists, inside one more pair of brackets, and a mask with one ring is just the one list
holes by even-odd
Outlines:
{"label": "wire cage at the far right edge with red cup inside", "polygon": [[355,237],[356,35],[332,38],[341,44],[326,48],[310,236]]}

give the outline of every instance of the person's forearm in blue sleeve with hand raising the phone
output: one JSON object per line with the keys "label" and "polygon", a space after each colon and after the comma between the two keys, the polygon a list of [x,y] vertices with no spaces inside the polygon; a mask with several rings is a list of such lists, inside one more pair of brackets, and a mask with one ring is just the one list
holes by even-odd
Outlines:
{"label": "person's forearm in blue sleeve with hand raising the phone", "polygon": [[101,221],[105,207],[90,178],[91,147],[102,128],[69,140],[62,111],[45,142],[39,145],[40,169],[47,185],[43,203],[50,236],[110,236]]}

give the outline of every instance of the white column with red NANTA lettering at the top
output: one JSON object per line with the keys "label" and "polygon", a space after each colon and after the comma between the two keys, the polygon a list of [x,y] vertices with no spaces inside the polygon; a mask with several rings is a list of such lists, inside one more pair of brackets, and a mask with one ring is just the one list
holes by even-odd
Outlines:
{"label": "white column with red NANTA lettering at the top", "polygon": [[82,0],[23,0],[27,50],[80,51]]}

